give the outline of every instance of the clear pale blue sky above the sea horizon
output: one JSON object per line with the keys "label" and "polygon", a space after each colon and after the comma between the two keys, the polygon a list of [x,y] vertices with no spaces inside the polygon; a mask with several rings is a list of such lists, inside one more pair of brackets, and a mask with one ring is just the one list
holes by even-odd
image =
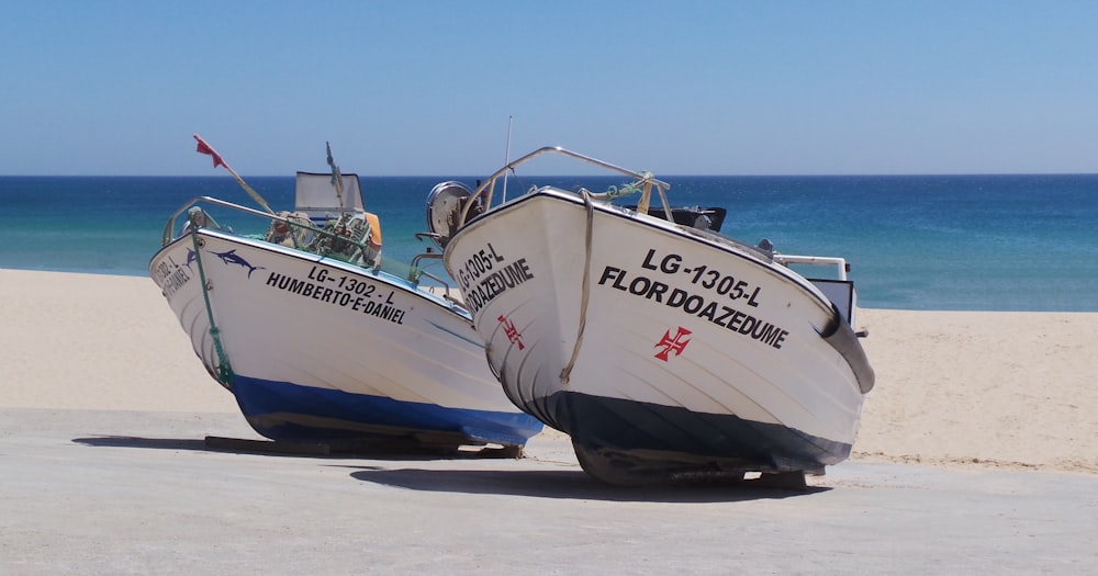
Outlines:
{"label": "clear pale blue sky above the sea horizon", "polygon": [[0,0],[0,174],[1098,172],[1098,1]]}

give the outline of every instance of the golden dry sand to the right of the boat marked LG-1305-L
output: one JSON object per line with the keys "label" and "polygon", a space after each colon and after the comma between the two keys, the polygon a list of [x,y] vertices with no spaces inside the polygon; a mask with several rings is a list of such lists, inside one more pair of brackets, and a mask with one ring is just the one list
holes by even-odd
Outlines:
{"label": "golden dry sand to the right of the boat marked LG-1305-L", "polygon": [[855,460],[1098,473],[1098,314],[860,312]]}

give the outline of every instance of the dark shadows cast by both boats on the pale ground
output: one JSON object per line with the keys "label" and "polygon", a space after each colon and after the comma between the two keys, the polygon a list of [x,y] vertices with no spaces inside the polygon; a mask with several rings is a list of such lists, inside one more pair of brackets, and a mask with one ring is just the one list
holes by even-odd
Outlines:
{"label": "dark shadows cast by both boats on the pale ground", "polygon": [[[211,447],[210,438],[145,438],[135,436],[94,436],[74,438],[72,442],[93,448],[137,448],[150,450],[188,450],[214,453],[247,453],[272,458],[312,458],[332,462],[332,466],[352,468],[350,477],[378,484],[419,492],[457,493],[457,494],[495,494],[501,496],[531,496],[539,498],[589,499],[605,501],[662,501],[662,502],[716,502],[748,501],[762,499],[784,499],[794,496],[808,496],[830,488],[824,486],[806,486],[791,489],[780,486],[769,486],[759,481],[701,481],[679,484],[660,484],[649,486],[621,487],[601,483],[579,466],[574,470],[445,470],[445,468],[389,468],[362,464],[336,464],[335,461],[372,460],[376,462],[444,462],[455,463],[485,458],[474,451],[439,451],[419,450],[396,452],[392,450],[376,450],[371,452],[335,452],[317,453],[303,444],[298,451],[280,447],[280,450],[246,450]],[[515,462],[534,459],[507,459]]]}

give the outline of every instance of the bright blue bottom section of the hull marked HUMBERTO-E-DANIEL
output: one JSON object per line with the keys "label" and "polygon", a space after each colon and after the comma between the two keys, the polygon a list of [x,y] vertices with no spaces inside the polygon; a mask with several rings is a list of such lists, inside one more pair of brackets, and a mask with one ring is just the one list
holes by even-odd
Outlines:
{"label": "bright blue bottom section of the hull marked HUMBERTO-E-DANIEL", "polygon": [[248,423],[271,440],[428,436],[442,442],[524,445],[541,431],[541,422],[520,413],[446,408],[240,375],[232,389]]}

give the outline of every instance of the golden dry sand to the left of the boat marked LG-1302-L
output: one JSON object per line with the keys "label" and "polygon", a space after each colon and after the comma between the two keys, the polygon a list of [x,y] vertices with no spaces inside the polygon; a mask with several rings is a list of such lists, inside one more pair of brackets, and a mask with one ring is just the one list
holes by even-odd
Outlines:
{"label": "golden dry sand to the left of the boat marked LG-1302-L", "polygon": [[235,411],[149,279],[0,270],[0,406]]}

